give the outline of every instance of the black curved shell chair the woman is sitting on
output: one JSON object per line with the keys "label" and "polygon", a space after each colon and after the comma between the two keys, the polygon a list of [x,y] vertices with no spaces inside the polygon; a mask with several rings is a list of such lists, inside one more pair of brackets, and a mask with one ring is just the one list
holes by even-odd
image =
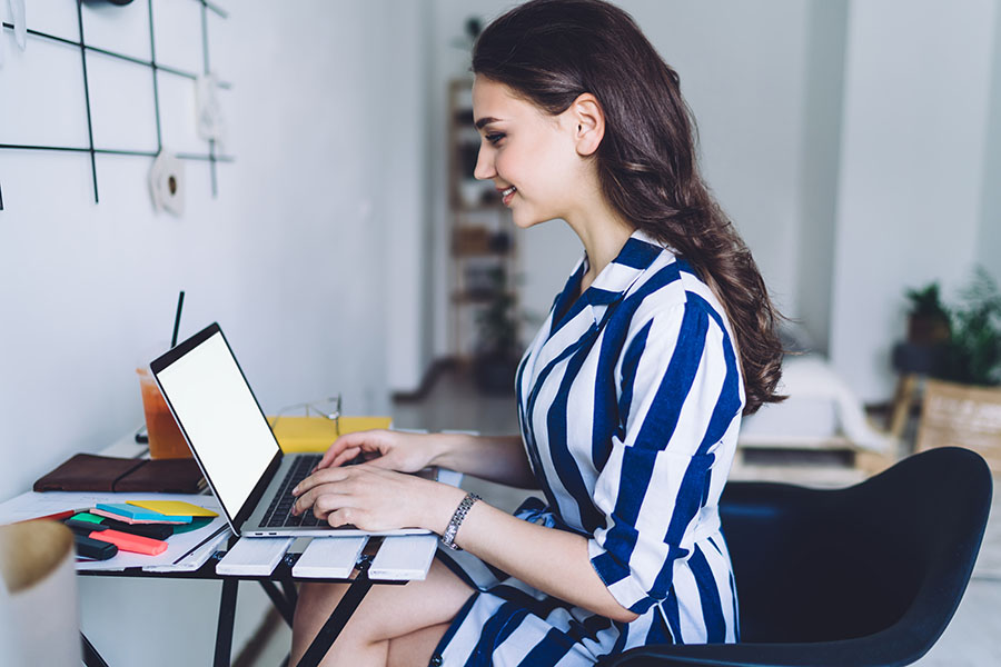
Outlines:
{"label": "black curved shell chair the woman is sitting on", "polygon": [[983,459],[955,447],[846,489],[731,482],[721,515],[741,643],[645,646],[602,665],[910,665],[959,606],[991,487]]}

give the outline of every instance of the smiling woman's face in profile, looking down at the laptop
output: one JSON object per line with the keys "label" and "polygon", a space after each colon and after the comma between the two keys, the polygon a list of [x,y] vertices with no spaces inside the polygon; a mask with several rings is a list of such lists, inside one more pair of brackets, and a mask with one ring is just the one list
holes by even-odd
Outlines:
{"label": "smiling woman's face in profile, looking down at the laptop", "polygon": [[515,225],[565,219],[585,180],[568,113],[549,116],[503,83],[477,76],[473,119],[483,137],[473,175],[494,181]]}

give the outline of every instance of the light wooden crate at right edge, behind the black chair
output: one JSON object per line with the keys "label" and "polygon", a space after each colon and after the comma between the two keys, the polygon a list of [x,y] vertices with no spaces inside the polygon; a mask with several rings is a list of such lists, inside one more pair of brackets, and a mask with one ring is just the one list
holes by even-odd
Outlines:
{"label": "light wooden crate at right edge, behind the black chair", "polygon": [[918,451],[965,447],[1001,476],[1001,388],[928,380],[918,428]]}

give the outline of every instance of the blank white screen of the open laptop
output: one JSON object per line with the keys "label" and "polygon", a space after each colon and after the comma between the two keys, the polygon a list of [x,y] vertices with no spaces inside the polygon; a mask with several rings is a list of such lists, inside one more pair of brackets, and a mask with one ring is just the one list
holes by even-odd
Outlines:
{"label": "blank white screen of the open laptop", "polygon": [[219,501],[236,516],[278,452],[219,332],[157,374]]}

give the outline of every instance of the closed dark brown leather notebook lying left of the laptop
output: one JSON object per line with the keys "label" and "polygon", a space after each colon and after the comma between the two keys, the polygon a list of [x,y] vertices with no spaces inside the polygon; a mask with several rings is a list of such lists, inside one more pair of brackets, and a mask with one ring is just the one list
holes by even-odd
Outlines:
{"label": "closed dark brown leather notebook lying left of the laptop", "polygon": [[197,494],[205,478],[194,459],[135,459],[78,454],[39,478],[42,491]]}

